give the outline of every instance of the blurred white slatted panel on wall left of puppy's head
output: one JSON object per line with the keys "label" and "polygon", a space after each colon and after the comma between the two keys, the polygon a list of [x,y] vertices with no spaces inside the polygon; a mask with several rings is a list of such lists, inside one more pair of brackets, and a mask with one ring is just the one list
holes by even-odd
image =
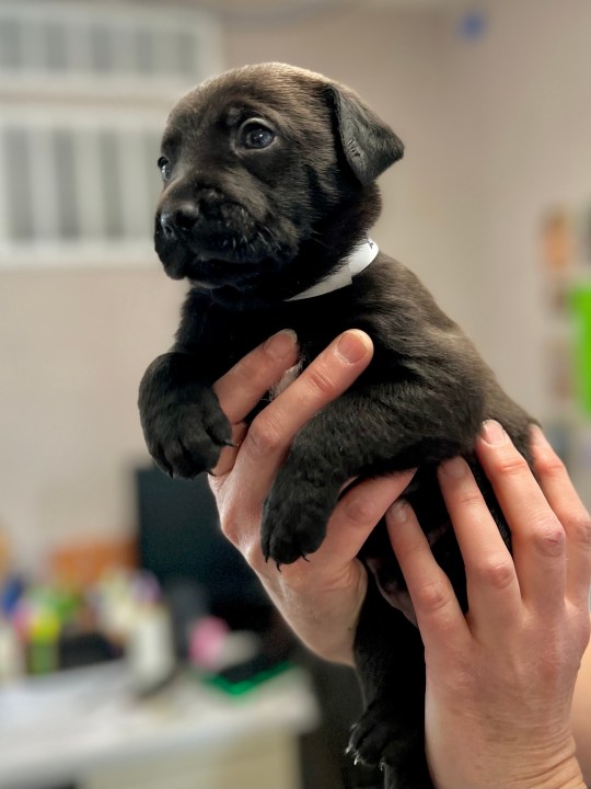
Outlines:
{"label": "blurred white slatted panel on wall left of puppy's head", "polygon": [[0,266],[153,260],[167,112],[220,70],[216,22],[144,5],[0,7]]}

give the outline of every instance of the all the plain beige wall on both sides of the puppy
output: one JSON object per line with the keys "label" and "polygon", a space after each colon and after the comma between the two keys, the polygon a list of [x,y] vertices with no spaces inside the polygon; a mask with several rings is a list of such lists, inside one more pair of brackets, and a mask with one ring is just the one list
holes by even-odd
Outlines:
{"label": "all the plain beige wall on both sides of the puppy", "polygon": [[[376,240],[414,268],[501,381],[544,409],[536,221],[591,201],[591,5],[488,0],[482,39],[441,11],[369,5],[229,28],[229,66],[286,60],[356,88],[405,140]],[[0,274],[0,528],[19,562],[135,525],[136,410],[183,287],[138,271]]]}

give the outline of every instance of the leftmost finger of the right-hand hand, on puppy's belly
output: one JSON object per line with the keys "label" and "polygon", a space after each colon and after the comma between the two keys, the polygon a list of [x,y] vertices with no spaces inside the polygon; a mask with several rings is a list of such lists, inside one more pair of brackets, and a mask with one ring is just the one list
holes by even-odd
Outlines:
{"label": "leftmost finger of the right-hand hand, on puppy's belly", "polygon": [[386,513],[390,541],[401,565],[426,650],[470,638],[450,580],[431,552],[413,507],[404,500]]}

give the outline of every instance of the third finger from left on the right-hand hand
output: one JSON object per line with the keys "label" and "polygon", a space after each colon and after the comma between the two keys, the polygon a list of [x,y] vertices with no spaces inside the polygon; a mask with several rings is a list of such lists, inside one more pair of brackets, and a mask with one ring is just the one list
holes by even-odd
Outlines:
{"label": "third finger from left on the right-hand hand", "polygon": [[495,421],[483,425],[476,454],[511,529],[521,597],[546,614],[565,601],[565,531],[532,470]]}

